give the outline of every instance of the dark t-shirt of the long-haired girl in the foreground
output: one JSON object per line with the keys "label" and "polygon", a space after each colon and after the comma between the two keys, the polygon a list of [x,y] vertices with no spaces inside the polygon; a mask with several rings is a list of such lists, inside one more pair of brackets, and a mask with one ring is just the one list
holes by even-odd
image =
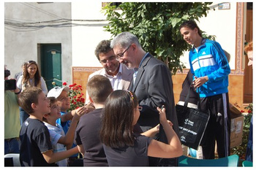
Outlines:
{"label": "dark t-shirt of the long-haired girl in the foreground", "polygon": [[148,145],[152,138],[135,134],[133,147],[111,148],[103,144],[109,166],[148,166]]}

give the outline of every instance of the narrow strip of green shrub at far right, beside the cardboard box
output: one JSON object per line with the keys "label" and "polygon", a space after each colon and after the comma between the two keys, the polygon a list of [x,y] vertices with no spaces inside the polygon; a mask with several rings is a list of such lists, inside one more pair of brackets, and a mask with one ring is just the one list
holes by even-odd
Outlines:
{"label": "narrow strip of green shrub at far right, beside the cardboard box", "polygon": [[251,125],[253,105],[249,104],[249,106],[248,107],[244,107],[244,109],[249,109],[249,110],[248,110],[248,114],[244,115],[244,126],[243,126],[242,143],[239,146],[233,147],[231,149],[233,151],[233,154],[239,155],[239,157],[241,159],[243,159],[243,160],[245,158],[246,147],[247,147],[247,144],[248,144],[249,127]]}

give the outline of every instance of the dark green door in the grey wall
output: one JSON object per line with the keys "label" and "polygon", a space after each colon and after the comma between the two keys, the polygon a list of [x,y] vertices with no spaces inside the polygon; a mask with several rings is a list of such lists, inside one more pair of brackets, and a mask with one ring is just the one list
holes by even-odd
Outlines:
{"label": "dark green door in the grey wall", "polygon": [[62,86],[61,44],[41,45],[41,72],[48,90],[54,87],[53,82]]}

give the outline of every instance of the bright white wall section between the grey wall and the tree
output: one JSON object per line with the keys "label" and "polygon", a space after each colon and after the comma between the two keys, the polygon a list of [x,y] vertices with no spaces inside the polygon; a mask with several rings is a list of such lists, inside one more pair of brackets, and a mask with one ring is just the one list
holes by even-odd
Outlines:
{"label": "bright white wall section between the grey wall and the tree", "polygon": [[110,39],[111,34],[104,31],[103,26],[108,22],[101,9],[102,2],[99,1],[72,2],[72,19],[82,20],[74,21],[78,26],[72,27],[73,66],[102,66],[94,55],[94,50],[100,41]]}

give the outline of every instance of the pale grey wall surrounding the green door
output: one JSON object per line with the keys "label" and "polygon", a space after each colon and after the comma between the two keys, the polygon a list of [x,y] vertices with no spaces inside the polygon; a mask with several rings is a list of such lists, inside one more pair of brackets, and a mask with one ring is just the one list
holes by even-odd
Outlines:
{"label": "pale grey wall surrounding the green door", "polygon": [[[4,24],[4,63],[11,71],[11,76],[21,71],[24,61],[37,61],[40,68],[40,44],[61,44],[62,80],[72,80],[72,28],[61,23],[43,21],[60,18],[71,18],[72,3],[37,3],[37,2],[6,2],[4,3],[4,19],[16,26]],[[28,24],[39,23],[41,24]],[[2,22],[4,23],[4,22]],[[18,23],[26,23],[19,26]],[[56,26],[52,26],[56,24]],[[30,27],[31,26],[31,27]],[[34,26],[34,27],[33,27]]]}

